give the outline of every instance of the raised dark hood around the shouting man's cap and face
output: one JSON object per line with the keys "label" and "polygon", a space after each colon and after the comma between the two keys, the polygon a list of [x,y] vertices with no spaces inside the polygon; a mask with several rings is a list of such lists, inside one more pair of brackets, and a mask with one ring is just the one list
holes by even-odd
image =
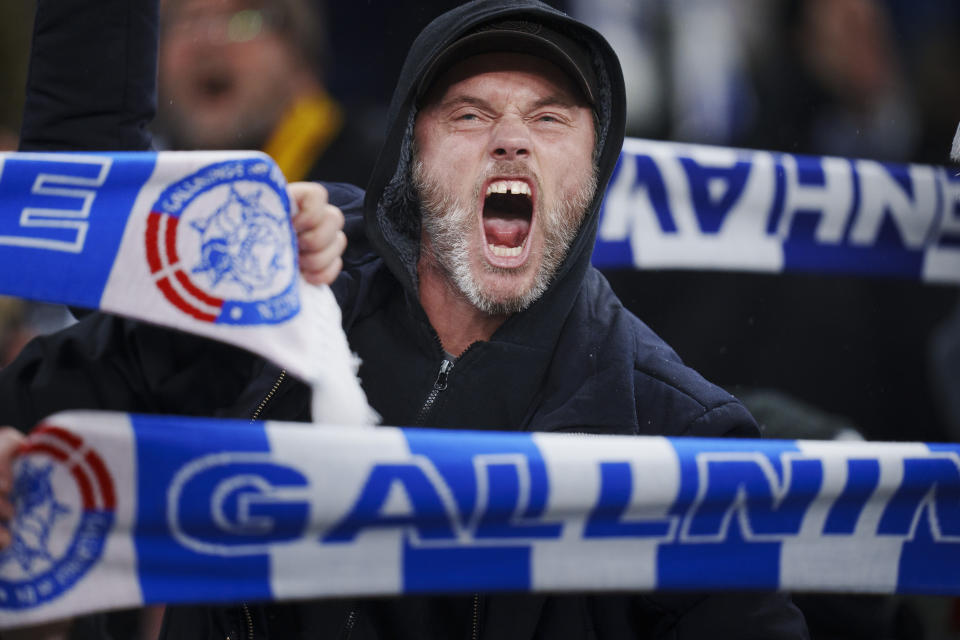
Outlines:
{"label": "raised dark hood around the shouting man's cap and face", "polygon": [[[431,62],[448,45],[481,25],[502,20],[542,23],[580,43],[591,53],[599,84],[595,96],[599,120],[597,193],[566,261],[533,309],[541,306],[545,298],[560,296],[570,300],[575,296],[593,251],[603,193],[623,144],[626,105],[620,63],[600,34],[566,14],[536,0],[477,0],[441,15],[420,33],[407,55],[390,102],[386,142],[364,201],[364,224],[367,237],[390,271],[416,297],[420,212],[410,183],[410,165],[417,89]],[[553,311],[558,309],[554,307]]]}

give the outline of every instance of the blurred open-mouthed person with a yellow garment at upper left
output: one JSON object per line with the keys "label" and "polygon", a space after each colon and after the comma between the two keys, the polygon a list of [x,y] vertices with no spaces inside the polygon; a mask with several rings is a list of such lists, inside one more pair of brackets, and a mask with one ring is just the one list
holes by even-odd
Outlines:
{"label": "blurred open-mouthed person with a yellow garment at upper left", "polygon": [[260,149],[288,181],[366,184],[380,139],[324,85],[320,0],[165,0],[157,130],[174,149]]}

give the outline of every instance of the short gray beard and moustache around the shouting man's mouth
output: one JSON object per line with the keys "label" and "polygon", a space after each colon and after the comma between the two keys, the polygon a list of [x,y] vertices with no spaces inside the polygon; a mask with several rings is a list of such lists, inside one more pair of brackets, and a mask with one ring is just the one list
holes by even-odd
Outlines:
{"label": "short gray beard and moustache around the shouting man's mouth", "polygon": [[[492,167],[487,175],[504,174],[526,174],[537,182],[538,192],[543,193],[539,181],[523,165],[500,163]],[[472,206],[475,206],[472,203],[480,201],[480,188],[486,177],[481,176],[474,187]],[[430,257],[443,271],[448,283],[482,313],[510,315],[536,302],[550,286],[593,200],[597,177],[596,172],[592,172],[589,180],[581,185],[572,198],[558,202],[550,211],[540,213],[539,224],[544,232],[543,256],[533,283],[525,290],[513,291],[506,296],[495,296],[493,292],[484,290],[471,270],[470,237],[477,224],[472,206],[446,191],[438,180],[427,174],[419,159],[414,160],[413,185],[420,198],[422,233],[430,240]],[[482,263],[482,268],[491,274],[514,274],[513,269],[496,267],[486,261]]]}

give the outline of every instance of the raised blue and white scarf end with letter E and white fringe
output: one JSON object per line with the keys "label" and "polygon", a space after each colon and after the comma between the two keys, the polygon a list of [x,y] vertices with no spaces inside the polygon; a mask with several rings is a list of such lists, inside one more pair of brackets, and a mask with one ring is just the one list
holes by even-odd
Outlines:
{"label": "raised blue and white scarf end with letter E and white fringe", "polygon": [[316,421],[371,424],[333,294],[299,274],[290,216],[260,153],[0,154],[0,293],[238,345],[310,383]]}

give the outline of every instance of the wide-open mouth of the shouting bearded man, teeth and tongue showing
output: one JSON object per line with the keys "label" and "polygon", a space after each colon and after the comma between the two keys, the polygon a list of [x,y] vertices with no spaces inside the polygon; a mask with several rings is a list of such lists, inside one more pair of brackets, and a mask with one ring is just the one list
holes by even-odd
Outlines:
{"label": "wide-open mouth of the shouting bearded man, teeth and tongue showing", "polygon": [[533,192],[523,180],[493,180],[483,199],[487,249],[497,258],[519,258],[533,221]]}

